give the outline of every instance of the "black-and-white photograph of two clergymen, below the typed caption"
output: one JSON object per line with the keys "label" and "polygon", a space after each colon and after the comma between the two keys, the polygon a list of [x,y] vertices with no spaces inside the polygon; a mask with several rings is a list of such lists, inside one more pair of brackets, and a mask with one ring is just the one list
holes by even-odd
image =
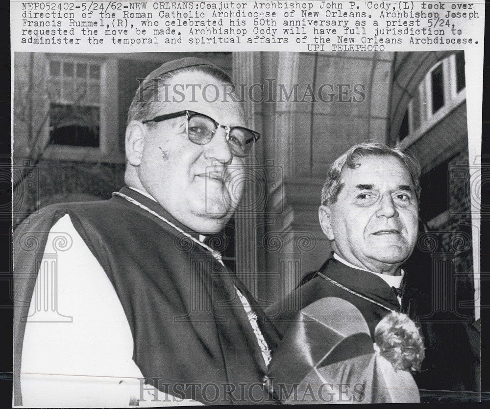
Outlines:
{"label": "black-and-white photograph of two clergymen, below the typed caption", "polygon": [[13,405],[480,401],[465,67],[16,51]]}

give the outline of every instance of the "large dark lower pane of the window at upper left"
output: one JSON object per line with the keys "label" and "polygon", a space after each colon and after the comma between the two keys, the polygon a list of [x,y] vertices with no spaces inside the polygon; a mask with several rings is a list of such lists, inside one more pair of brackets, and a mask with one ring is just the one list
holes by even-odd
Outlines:
{"label": "large dark lower pane of the window at upper left", "polygon": [[49,130],[53,144],[98,147],[99,124],[98,107],[51,104]]}

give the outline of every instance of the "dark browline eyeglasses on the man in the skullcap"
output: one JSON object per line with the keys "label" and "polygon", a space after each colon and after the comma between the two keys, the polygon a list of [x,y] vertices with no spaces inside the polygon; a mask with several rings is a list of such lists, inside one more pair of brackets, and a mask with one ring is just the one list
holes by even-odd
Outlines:
{"label": "dark browline eyeglasses on the man in the skullcap", "polygon": [[185,115],[187,117],[186,132],[191,142],[197,145],[206,145],[218,128],[226,130],[226,141],[234,156],[246,156],[253,148],[255,142],[260,138],[260,133],[244,127],[227,127],[220,125],[213,118],[194,111],[179,111],[172,114],[158,115],[153,119],[142,121],[143,124],[148,122],[160,122],[167,119],[178,118]]}

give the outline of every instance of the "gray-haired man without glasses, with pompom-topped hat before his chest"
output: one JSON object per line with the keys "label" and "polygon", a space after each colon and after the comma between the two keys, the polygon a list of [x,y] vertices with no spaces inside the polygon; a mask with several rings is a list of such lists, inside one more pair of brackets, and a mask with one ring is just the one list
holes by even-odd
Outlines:
{"label": "gray-haired man without glasses, with pompom-topped hat before his chest", "polygon": [[[478,399],[478,333],[450,318],[418,323],[419,317],[430,315],[433,304],[407,279],[430,274],[430,265],[418,266],[418,271],[402,268],[417,241],[419,176],[412,155],[380,143],[355,145],[332,164],[319,221],[333,252],[284,302],[295,305],[299,300],[299,305],[272,318],[283,334],[270,363],[276,382],[304,387],[314,378],[317,389],[329,382],[348,383],[351,389],[345,393],[332,392],[336,399],[331,403],[418,401],[414,379],[421,401]],[[392,312],[391,324],[379,328]],[[396,318],[400,312],[406,318]],[[400,324],[409,318],[419,324],[418,333],[412,325]],[[374,354],[390,358],[395,369],[406,360],[402,369],[411,371],[413,379],[402,379],[401,371],[380,376],[383,368],[373,364]],[[364,385],[358,385],[362,396],[356,395],[356,381]],[[315,399],[326,403],[319,394]]]}

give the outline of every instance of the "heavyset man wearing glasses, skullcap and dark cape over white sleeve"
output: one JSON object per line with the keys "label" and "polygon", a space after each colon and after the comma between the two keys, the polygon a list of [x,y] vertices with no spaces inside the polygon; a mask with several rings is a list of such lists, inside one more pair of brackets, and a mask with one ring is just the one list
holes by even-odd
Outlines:
{"label": "heavyset man wearing glasses, skullcap and dark cape over white sleeve", "polygon": [[[15,273],[36,279],[15,284],[17,405],[270,401],[277,332],[204,241],[233,215],[260,137],[231,94],[200,92],[223,84],[233,85],[196,58],[150,73],[128,112],[126,186],[105,202],[46,207],[15,231]],[[25,245],[33,231],[46,232],[38,258]],[[52,282],[71,322],[40,322],[58,232],[71,241]]]}

